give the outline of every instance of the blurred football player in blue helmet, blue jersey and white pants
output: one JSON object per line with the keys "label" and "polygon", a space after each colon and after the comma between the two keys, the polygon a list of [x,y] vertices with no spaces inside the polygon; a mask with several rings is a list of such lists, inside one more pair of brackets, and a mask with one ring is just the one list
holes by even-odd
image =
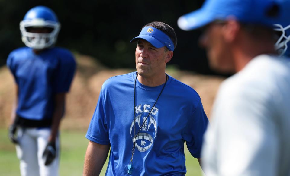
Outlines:
{"label": "blurred football player in blue helmet, blue jersey and white pants", "polygon": [[68,50],[53,47],[60,23],[50,8],[29,10],[20,30],[27,47],[7,59],[17,90],[9,138],[16,144],[22,176],[57,176],[58,129],[76,62]]}

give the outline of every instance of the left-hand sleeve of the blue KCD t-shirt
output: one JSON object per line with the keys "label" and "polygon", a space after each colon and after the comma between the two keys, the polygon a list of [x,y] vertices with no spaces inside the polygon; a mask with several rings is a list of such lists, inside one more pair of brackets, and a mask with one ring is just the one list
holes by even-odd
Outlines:
{"label": "left-hand sleeve of the blue KCD t-shirt", "polygon": [[97,107],[85,137],[95,143],[103,145],[110,144],[102,93],[100,93]]}

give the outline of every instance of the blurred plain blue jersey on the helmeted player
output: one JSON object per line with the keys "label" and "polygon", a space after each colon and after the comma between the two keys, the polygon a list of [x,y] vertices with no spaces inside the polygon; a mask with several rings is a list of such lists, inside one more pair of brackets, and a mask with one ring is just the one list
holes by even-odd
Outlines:
{"label": "blurred plain blue jersey on the helmeted player", "polygon": [[66,49],[54,47],[35,54],[23,47],[9,54],[7,66],[18,86],[16,114],[43,120],[53,116],[54,95],[69,91],[76,62]]}

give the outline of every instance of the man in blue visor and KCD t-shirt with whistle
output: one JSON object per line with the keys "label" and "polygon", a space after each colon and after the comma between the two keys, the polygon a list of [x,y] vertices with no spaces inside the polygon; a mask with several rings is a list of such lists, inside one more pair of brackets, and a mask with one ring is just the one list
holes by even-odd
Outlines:
{"label": "man in blue visor and KCD t-shirt with whistle", "polygon": [[89,125],[83,175],[185,175],[184,141],[200,158],[208,124],[191,87],[165,73],[176,34],[162,22],[146,24],[135,51],[137,72],[111,77],[102,86]]}

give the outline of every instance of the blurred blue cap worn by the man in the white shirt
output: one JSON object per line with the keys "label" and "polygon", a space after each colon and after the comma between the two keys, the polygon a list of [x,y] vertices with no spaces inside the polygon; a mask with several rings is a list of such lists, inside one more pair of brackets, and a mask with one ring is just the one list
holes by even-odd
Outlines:
{"label": "blurred blue cap worn by the man in the white shirt", "polygon": [[[247,24],[272,27],[284,24],[290,16],[289,0],[206,0],[203,6],[179,17],[177,24],[182,30],[203,27],[214,20],[233,18]],[[268,15],[269,9],[278,6],[277,15]]]}

